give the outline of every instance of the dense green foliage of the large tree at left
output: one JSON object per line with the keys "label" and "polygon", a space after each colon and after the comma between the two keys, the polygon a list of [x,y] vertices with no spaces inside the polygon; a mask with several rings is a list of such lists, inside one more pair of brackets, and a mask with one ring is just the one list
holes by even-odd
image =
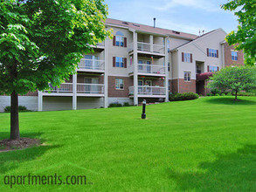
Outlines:
{"label": "dense green foliage of the large tree at left", "polygon": [[0,2],[0,94],[59,86],[110,36],[102,0]]}

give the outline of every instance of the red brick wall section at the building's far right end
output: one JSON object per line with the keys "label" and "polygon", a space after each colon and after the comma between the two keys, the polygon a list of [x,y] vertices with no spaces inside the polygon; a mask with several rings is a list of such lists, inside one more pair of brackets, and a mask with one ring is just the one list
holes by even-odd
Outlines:
{"label": "red brick wall section at the building's far right end", "polygon": [[232,50],[235,50],[233,45],[228,45],[228,43],[224,44],[224,51],[225,51],[225,66],[231,65],[245,65],[244,62],[244,53],[243,51],[238,51],[238,60],[232,60]]}

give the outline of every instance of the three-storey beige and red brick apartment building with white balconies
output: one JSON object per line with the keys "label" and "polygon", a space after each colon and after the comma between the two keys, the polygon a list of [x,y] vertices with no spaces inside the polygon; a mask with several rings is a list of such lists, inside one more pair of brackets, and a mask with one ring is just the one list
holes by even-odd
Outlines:
{"label": "three-storey beige and red brick apartment building with white balconies", "polygon": [[[116,19],[107,19],[106,28],[114,38],[93,46],[77,74],[59,87],[19,96],[19,105],[51,111],[167,102],[169,93],[205,95],[212,72],[244,65],[243,52],[227,45],[222,29],[197,36]],[[5,106],[10,97],[0,96],[0,112]]]}

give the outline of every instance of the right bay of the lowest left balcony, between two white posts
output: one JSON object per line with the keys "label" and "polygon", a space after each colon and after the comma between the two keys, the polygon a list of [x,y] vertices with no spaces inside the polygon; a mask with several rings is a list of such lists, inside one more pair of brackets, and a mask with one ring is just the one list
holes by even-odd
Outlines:
{"label": "right bay of the lowest left balcony, between two white posts", "polygon": [[86,97],[104,97],[104,84],[77,84],[77,95]]}

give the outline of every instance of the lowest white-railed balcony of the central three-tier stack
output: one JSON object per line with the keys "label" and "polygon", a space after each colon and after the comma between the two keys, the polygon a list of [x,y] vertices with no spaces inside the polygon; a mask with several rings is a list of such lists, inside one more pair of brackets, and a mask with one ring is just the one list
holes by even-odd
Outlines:
{"label": "lowest white-railed balcony of the central three-tier stack", "polygon": [[[134,97],[134,86],[129,86],[129,96]],[[166,88],[164,86],[138,86],[139,98],[165,98]]]}

